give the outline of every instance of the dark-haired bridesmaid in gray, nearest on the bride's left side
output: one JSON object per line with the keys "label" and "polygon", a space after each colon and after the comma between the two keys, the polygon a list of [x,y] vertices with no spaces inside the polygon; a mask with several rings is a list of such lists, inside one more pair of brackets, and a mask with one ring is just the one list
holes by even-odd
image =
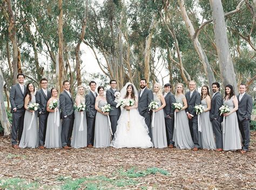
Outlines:
{"label": "dark-haired bridesmaid in gray, nearest on the bride's left side", "polygon": [[109,113],[102,112],[102,108],[106,103],[106,96],[104,95],[104,87],[98,87],[99,95],[95,100],[95,109],[97,110],[95,117],[95,136],[94,136],[94,146],[96,148],[110,146],[110,129],[109,129],[109,120],[107,115]]}

